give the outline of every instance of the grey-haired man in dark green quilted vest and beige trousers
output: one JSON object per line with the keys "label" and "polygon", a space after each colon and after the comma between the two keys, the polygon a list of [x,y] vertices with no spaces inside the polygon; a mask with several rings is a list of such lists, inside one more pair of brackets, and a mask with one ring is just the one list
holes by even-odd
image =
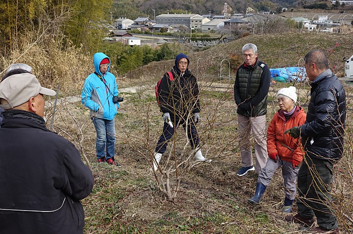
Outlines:
{"label": "grey-haired man in dark green quilted vest and beige trousers", "polygon": [[[246,44],[242,51],[244,64],[237,70],[234,82],[234,99],[238,106],[239,148],[242,157],[242,167],[237,173],[238,176],[244,176],[253,170],[259,173],[266,165],[267,94],[271,79],[268,66],[257,59],[257,47],[254,44]],[[252,162],[252,139],[255,148],[255,167]]]}

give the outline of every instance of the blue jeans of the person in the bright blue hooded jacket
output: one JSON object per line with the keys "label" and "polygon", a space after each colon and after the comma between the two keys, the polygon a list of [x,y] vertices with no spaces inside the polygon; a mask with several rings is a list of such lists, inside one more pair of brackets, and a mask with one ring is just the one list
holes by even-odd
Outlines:
{"label": "blue jeans of the person in the bright blue hooded jacket", "polygon": [[115,155],[115,123],[114,119],[108,120],[103,118],[91,117],[93,124],[95,125],[97,132],[96,141],[96,153],[97,159],[105,156],[105,145],[106,145],[106,157],[110,159]]}

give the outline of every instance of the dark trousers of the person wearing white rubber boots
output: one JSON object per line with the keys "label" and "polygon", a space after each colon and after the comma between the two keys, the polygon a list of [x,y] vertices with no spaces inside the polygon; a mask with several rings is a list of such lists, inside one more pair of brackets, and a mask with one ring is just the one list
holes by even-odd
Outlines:
{"label": "dark trousers of the person wearing white rubber boots", "polygon": [[[199,134],[193,121],[190,121],[186,126],[185,122],[179,122],[178,125],[172,128],[168,123],[164,122],[162,135],[159,137],[155,152],[163,154],[168,145],[168,141],[173,137],[178,126],[182,124],[184,130],[187,130],[188,139],[190,140],[191,147],[195,149],[199,146]],[[186,129],[187,127],[187,129]]]}

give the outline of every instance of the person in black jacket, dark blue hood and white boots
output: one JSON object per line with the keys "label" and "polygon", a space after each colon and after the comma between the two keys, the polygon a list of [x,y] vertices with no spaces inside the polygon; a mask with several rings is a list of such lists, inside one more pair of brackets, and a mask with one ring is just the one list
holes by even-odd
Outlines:
{"label": "person in black jacket, dark blue hood and white boots", "polygon": [[176,128],[187,127],[191,147],[196,150],[194,158],[207,161],[199,148],[199,134],[196,124],[200,117],[199,86],[196,77],[188,70],[189,58],[180,53],[176,55],[175,66],[171,70],[173,78],[166,73],[159,86],[158,102],[163,113],[164,126],[154,151],[153,168],[157,170],[168,141],[173,137]]}

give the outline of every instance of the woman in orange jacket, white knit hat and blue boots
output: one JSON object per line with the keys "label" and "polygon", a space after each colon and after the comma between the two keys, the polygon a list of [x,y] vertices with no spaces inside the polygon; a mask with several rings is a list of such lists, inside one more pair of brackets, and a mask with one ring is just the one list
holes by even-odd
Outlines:
{"label": "woman in orange jacket, white knit hat and blue boots", "polygon": [[296,88],[290,86],[277,92],[279,110],[274,115],[267,129],[267,153],[270,159],[257,178],[255,195],[248,199],[251,204],[259,204],[262,194],[270,184],[275,171],[282,166],[285,187],[283,212],[289,213],[297,193],[296,181],[300,164],[303,161],[303,150],[299,138],[294,139],[284,132],[292,127],[301,126],[306,114],[297,102]]}

